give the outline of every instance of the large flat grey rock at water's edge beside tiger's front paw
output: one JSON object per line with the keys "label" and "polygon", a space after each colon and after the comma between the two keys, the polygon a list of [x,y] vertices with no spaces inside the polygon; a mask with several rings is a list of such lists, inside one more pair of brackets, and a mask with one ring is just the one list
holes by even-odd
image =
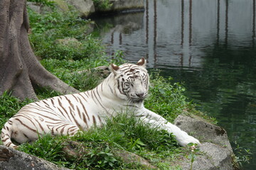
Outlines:
{"label": "large flat grey rock at water's edge beside tiger's front paw", "polygon": [[[193,169],[234,169],[233,150],[227,132],[223,128],[207,123],[202,118],[196,116],[191,118],[185,115],[178,115],[174,124],[201,141],[201,154],[197,155],[193,162]],[[190,169],[191,160],[184,159],[177,164],[180,164],[182,169]]]}

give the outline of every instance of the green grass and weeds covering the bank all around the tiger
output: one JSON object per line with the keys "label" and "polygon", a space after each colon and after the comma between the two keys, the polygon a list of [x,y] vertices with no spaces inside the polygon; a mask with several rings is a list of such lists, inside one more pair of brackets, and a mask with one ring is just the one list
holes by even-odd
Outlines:
{"label": "green grass and weeds covering the bank all around the tiger", "polygon": [[[48,1],[43,3],[48,4]],[[74,11],[58,11],[54,4],[50,6],[53,11],[44,15],[28,10],[31,21],[29,38],[35,54],[41,58],[41,64],[49,72],[70,86],[80,91],[94,88],[101,79],[95,77],[94,73],[78,74],[77,71],[109,65],[111,62],[122,64],[123,53],[117,51],[114,56],[107,56],[100,40],[85,34],[90,21],[81,20]],[[65,38],[76,40],[75,43],[67,45],[57,43],[58,39]],[[145,101],[145,106],[172,122],[184,110],[193,111],[193,105],[183,95],[183,86],[170,84],[169,81],[170,79],[160,77],[158,72],[151,73],[150,95]],[[36,94],[40,99],[60,95],[41,88],[36,89]],[[6,93],[1,96],[0,128],[22,106],[30,102],[32,101],[19,101]],[[19,149],[70,169],[146,169],[139,164],[124,162],[117,155],[120,151],[138,154],[159,169],[171,169],[171,162],[186,154],[172,135],[164,130],[159,131],[142,125],[129,116],[130,114],[132,113],[119,113],[117,117],[107,119],[103,127],[93,128],[73,137],[39,137],[35,142],[21,145]],[[80,153],[83,150],[80,154],[67,157],[63,149],[71,141],[78,142],[84,149],[76,151]],[[179,168],[174,166],[172,169]]]}

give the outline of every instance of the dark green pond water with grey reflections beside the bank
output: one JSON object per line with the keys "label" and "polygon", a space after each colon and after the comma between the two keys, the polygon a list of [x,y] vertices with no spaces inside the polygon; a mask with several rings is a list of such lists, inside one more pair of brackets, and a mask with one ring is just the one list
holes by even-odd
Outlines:
{"label": "dark green pond water with grey reflections beside the bank", "polygon": [[184,82],[198,110],[230,142],[252,152],[256,169],[255,0],[146,0],[142,13],[96,19],[107,52],[146,57],[148,68]]}

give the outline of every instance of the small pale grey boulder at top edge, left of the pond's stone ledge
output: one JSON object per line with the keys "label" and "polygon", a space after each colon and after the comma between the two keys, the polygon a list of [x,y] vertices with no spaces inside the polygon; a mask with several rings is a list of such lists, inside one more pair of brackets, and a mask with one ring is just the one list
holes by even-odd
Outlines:
{"label": "small pale grey boulder at top edge, left of the pond's stone ledge", "polygon": [[92,0],[66,0],[68,4],[71,4],[74,6],[78,12],[80,13],[80,16],[87,17],[91,13],[95,12],[95,6],[93,4]]}

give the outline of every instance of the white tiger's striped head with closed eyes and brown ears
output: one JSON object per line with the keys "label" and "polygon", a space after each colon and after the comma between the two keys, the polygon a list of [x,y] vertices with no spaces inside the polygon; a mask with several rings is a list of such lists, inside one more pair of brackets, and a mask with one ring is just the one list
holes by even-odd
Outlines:
{"label": "white tiger's striped head with closed eyes and brown ears", "polygon": [[144,101],[149,90],[149,74],[146,71],[146,60],[142,58],[137,64],[125,63],[120,66],[110,65],[114,74],[115,94],[132,103]]}

